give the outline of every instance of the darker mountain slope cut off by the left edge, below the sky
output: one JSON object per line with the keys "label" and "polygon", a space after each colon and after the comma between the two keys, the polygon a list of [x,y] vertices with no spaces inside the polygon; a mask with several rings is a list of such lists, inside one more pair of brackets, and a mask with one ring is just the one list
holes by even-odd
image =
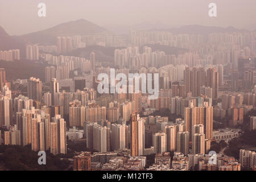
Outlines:
{"label": "darker mountain slope cut off by the left edge, below the sky", "polygon": [[0,27],[0,51],[23,49],[23,47],[24,43],[22,41],[10,36],[2,27]]}

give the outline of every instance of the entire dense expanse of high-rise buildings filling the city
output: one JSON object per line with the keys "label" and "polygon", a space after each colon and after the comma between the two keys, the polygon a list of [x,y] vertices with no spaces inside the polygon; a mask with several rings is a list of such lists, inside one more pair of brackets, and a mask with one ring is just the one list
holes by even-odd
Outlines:
{"label": "entire dense expanse of high-rise buildings filling the city", "polygon": [[[47,65],[45,81],[13,81],[27,84],[27,93],[16,94],[0,69],[0,144],[31,144],[31,150],[57,155],[67,154],[67,139],[85,140],[86,148],[97,152],[76,152],[73,169],[78,171],[255,169],[253,151],[241,150],[239,162],[209,154],[213,140],[227,142],[241,134],[233,128],[213,130],[213,119],[229,127],[243,125],[243,116],[256,109],[255,37],[255,32],[130,31],[128,42],[111,35],[61,35],[56,45],[27,45],[26,59]],[[87,44],[125,48],[114,50],[112,63],[96,60],[95,52],[89,60],[68,55]],[[151,44],[184,49],[170,53]],[[0,60],[19,57],[19,50],[0,52]],[[131,88],[126,82],[121,92],[98,92],[100,73],[108,76],[108,89],[119,83],[113,68],[115,75],[138,73],[138,92],[126,92]],[[145,88],[143,74],[159,78],[147,80]],[[142,90],[155,84],[158,97],[151,100]],[[256,129],[253,116],[249,127]],[[155,161],[149,165],[151,154]]]}

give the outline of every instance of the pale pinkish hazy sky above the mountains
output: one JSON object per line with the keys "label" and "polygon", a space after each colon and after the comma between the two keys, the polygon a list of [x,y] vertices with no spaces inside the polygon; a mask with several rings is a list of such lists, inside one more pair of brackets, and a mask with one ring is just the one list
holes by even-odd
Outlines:
{"label": "pale pinkish hazy sky above the mountains", "polygon": [[[46,17],[38,4],[46,3]],[[217,17],[208,5],[217,4]],[[0,26],[10,35],[44,30],[59,23],[86,19],[100,26],[163,22],[170,26],[201,24],[256,28],[256,0],[0,0]]]}

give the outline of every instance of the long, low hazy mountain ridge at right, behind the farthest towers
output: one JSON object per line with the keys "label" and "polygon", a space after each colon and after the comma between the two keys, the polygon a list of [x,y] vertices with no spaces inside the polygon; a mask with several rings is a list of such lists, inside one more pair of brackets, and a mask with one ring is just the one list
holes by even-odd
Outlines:
{"label": "long, low hazy mountain ridge at right, behind the farthest towers", "polygon": [[232,26],[223,28],[223,27],[214,27],[214,26],[201,26],[201,25],[187,25],[180,28],[171,28],[168,29],[175,34],[212,34],[212,33],[225,33],[225,32],[242,32],[247,30],[239,30]]}

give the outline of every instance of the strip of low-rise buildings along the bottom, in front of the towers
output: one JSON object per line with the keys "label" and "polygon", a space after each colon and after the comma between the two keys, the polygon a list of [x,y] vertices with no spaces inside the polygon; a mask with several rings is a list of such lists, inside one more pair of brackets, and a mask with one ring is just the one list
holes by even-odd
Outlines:
{"label": "strip of low-rise buildings along the bottom, in front of the towers", "polygon": [[93,153],[77,152],[74,157],[75,171],[240,171],[241,164],[233,157],[225,157],[221,154],[214,156],[214,162],[210,155],[189,154],[185,156],[181,152],[174,152],[171,159],[170,152],[156,154],[154,163],[148,165],[146,156],[118,155],[117,152]]}

